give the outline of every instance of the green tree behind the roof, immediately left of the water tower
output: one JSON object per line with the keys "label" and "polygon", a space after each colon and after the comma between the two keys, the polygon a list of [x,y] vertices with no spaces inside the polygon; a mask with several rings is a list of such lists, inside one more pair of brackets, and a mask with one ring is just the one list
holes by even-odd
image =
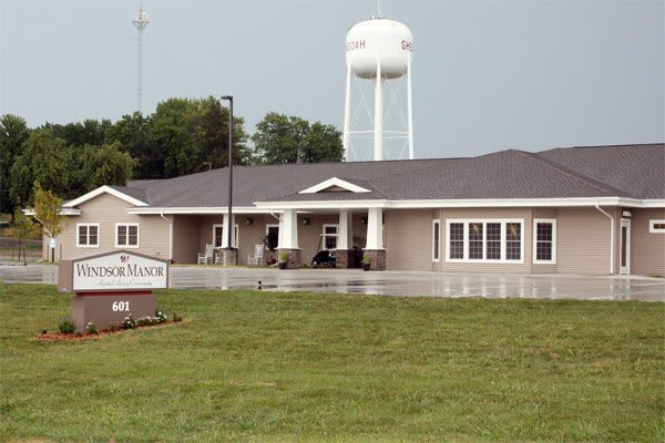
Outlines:
{"label": "green tree behind the roof, immediately left of the water tower", "polygon": [[268,113],[252,136],[256,163],[288,164],[340,162],[341,134],[331,125]]}

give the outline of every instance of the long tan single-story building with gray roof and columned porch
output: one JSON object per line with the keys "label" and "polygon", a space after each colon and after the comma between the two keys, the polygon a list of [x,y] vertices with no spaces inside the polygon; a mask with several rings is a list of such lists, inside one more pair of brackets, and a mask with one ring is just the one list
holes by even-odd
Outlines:
{"label": "long tan single-story building with gray roof and columned porch", "polygon": [[[206,245],[225,250],[231,226],[237,265],[270,234],[293,267],[330,249],[337,267],[357,266],[362,250],[372,269],[665,275],[665,144],[234,166],[231,220],[227,174],[66,202],[55,259],[132,248],[193,264]],[[264,265],[277,257],[258,249]]]}

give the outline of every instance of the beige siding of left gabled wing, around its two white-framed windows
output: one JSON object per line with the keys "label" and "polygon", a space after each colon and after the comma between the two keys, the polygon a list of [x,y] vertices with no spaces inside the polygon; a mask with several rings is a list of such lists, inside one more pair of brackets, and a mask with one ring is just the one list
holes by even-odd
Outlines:
{"label": "beige siding of left gabled wing, around its two white-framed windows", "polygon": [[[109,194],[102,194],[79,206],[80,216],[69,217],[66,229],[58,236],[55,259],[88,256],[115,248],[115,224],[139,223],[139,248],[133,251],[145,254],[162,259],[168,258],[168,225],[170,223],[158,215],[131,215],[126,208],[132,207],[129,203]],[[99,223],[100,246],[98,248],[76,247],[76,224]],[[48,246],[48,241],[47,241]]]}

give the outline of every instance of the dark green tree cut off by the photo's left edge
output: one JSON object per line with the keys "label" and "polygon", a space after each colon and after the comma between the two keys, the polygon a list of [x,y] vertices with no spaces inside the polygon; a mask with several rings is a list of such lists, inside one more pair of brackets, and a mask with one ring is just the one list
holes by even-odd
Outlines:
{"label": "dark green tree cut off by the photo's left edge", "polygon": [[24,119],[12,114],[0,117],[0,214],[11,212],[19,204],[9,192],[11,167],[29,135]]}

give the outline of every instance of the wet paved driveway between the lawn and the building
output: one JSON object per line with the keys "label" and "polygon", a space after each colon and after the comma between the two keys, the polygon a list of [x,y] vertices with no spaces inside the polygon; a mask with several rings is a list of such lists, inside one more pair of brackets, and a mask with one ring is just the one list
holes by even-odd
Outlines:
{"label": "wet paved driveway between the lawn and the building", "polygon": [[[55,284],[57,279],[58,268],[54,266],[0,266],[0,280],[3,281]],[[258,281],[262,281],[263,289],[278,291],[665,301],[665,279],[633,276],[511,276],[172,266],[170,281],[173,288],[256,289]]]}

